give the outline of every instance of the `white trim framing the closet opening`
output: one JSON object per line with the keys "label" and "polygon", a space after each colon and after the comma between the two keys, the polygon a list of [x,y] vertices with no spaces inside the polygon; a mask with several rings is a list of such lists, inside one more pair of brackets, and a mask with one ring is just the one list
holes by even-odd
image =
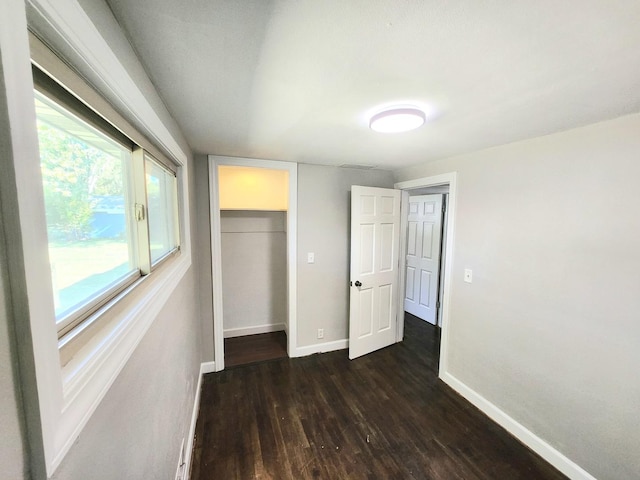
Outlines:
{"label": "white trim framing the closet opening", "polygon": [[224,370],[224,325],[222,304],[222,242],[220,237],[220,200],[218,197],[218,165],[270,168],[289,172],[289,209],[287,210],[287,351],[297,352],[297,222],[298,164],[254,158],[209,155],[209,205],[211,219],[211,275],[213,279],[213,355],[216,371]]}

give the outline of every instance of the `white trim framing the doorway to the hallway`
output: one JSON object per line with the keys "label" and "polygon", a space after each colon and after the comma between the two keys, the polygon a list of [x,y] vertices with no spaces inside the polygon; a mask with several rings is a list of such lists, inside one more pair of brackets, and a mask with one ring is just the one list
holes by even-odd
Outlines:
{"label": "white trim framing the doorway to the hallway", "polygon": [[[440,367],[438,376],[443,378],[448,373],[449,363],[449,325],[450,319],[450,305],[451,305],[451,284],[453,280],[453,257],[454,257],[454,233],[455,233],[455,216],[456,216],[456,172],[444,173],[441,175],[435,175],[432,177],[416,178],[414,180],[408,180],[406,182],[398,182],[394,185],[394,188],[404,190],[402,200],[403,204],[409,198],[407,190],[414,190],[424,187],[435,187],[438,185],[449,185],[449,204],[447,205],[447,241],[445,245],[445,260],[444,260],[444,283],[442,285],[444,299],[442,303],[442,338],[440,340]],[[405,195],[406,193],[406,195]],[[400,226],[400,245],[405,249],[404,245],[407,242],[407,220],[406,220],[406,206],[402,210],[403,222]],[[404,250],[403,250],[404,252]],[[402,252],[401,252],[402,253]],[[400,257],[400,293],[405,295],[405,281],[403,273],[406,269],[406,252]],[[398,318],[404,318],[404,302],[398,302]],[[404,322],[398,322],[398,341],[402,340],[404,336]]]}

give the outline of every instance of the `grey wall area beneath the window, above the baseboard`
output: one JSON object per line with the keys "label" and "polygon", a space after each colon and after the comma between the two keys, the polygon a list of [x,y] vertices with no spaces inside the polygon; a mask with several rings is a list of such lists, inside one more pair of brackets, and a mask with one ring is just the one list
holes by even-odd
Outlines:
{"label": "grey wall area beneath the window, above the baseboard", "polygon": [[188,433],[200,362],[195,291],[192,269],[53,479],[173,480]]}

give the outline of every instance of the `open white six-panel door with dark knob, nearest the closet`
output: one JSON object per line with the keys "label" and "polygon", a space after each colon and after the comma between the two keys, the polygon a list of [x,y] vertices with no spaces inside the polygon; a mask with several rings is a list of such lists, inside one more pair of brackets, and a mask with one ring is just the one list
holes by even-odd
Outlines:
{"label": "open white six-panel door with dark knob, nearest the closet", "polygon": [[351,187],[351,359],[397,341],[400,197],[400,190]]}

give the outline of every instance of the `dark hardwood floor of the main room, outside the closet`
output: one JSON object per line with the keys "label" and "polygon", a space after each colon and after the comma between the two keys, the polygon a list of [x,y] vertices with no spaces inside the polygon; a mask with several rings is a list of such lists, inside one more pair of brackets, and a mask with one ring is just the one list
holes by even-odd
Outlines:
{"label": "dark hardwood floor of the main room, outside the closet", "polygon": [[437,378],[439,329],[203,380],[193,480],[565,478]]}

